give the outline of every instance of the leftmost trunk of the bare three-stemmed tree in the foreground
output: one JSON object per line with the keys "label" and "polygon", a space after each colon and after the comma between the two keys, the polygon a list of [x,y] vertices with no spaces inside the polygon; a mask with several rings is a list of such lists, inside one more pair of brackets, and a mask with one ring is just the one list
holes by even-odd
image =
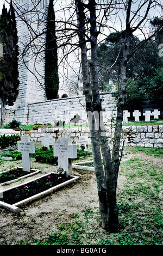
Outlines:
{"label": "leftmost trunk of the bare three-stemmed tree in the foreground", "polygon": [[82,54],[82,74],[83,74],[83,85],[86,102],[87,118],[89,121],[93,162],[95,166],[95,174],[97,180],[97,189],[99,197],[99,209],[101,211],[103,227],[107,220],[107,202],[106,202],[106,188],[105,188],[105,177],[103,172],[103,165],[101,159],[101,151],[98,142],[98,131],[96,130],[95,115],[93,114],[93,102],[92,102],[92,84],[90,81],[89,65],[87,61],[87,47],[85,40],[85,15],[84,7],[81,1],[76,0],[76,12],[78,19],[78,35],[79,43]]}

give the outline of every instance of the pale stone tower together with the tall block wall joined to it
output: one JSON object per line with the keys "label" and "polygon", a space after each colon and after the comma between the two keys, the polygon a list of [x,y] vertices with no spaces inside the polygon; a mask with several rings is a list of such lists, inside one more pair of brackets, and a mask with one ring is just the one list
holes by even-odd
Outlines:
{"label": "pale stone tower together with the tall block wall joined to it", "polygon": [[[20,86],[14,106],[6,107],[4,123],[12,119],[22,124],[54,123],[57,120],[70,121],[74,115],[85,115],[85,100],[82,93],[59,90],[59,98],[47,100],[45,93],[45,31],[49,0],[15,0],[18,33],[19,60],[18,72]],[[25,21],[25,22],[24,22]],[[31,42],[32,41],[32,42]],[[60,86],[62,87],[62,86]],[[114,97],[104,94],[106,111],[115,115]],[[82,102],[82,104],[81,104]]]}

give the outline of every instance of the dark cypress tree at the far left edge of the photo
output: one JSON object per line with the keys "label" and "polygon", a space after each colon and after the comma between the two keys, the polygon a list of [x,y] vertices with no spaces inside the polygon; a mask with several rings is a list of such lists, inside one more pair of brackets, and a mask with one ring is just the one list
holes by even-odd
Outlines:
{"label": "dark cypress tree at the far left edge of the photo", "polygon": [[17,30],[12,1],[9,12],[3,5],[0,18],[0,42],[3,45],[3,56],[0,58],[1,125],[3,125],[5,106],[14,105],[19,85]]}

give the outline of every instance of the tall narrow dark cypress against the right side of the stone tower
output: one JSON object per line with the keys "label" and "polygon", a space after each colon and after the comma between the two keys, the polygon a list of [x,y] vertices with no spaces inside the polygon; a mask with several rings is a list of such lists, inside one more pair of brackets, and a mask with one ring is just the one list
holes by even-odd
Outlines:
{"label": "tall narrow dark cypress against the right side of the stone tower", "polygon": [[45,88],[48,100],[57,99],[59,90],[57,38],[53,0],[49,1],[45,53]]}

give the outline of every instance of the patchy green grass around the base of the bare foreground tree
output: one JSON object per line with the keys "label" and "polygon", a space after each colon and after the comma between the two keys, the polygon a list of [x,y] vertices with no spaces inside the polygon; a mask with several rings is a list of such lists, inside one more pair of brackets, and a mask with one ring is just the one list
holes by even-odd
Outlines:
{"label": "patchy green grass around the base of the bare foreground tree", "polygon": [[[163,149],[126,149],[129,161],[120,166],[117,189],[118,232],[101,228],[98,208],[74,212],[58,222],[58,230],[20,245],[162,245]],[[122,182],[123,181],[123,182]]]}

